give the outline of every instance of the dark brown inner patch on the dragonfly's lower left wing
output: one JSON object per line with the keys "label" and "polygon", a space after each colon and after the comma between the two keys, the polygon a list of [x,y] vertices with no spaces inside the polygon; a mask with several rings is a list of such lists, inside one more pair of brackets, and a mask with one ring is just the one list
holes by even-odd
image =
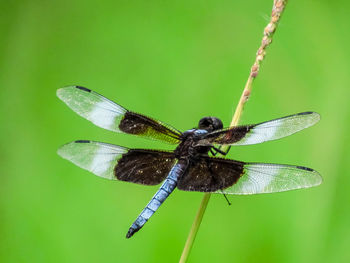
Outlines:
{"label": "dark brown inner patch on the dragonfly's lower left wing", "polygon": [[131,149],[114,168],[118,180],[144,185],[161,183],[175,164],[171,152]]}

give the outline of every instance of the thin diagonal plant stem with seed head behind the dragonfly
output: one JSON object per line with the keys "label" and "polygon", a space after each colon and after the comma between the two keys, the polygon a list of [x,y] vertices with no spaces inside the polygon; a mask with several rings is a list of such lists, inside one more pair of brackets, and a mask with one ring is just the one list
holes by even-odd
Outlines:
{"label": "thin diagonal plant stem with seed head behind the dragonfly", "polygon": [[[257,77],[257,75],[259,73],[260,64],[264,60],[264,57],[266,55],[266,48],[272,42],[272,37],[276,31],[278,22],[280,21],[281,15],[283,13],[283,10],[284,10],[286,4],[287,4],[287,0],[274,0],[273,1],[270,22],[267,24],[267,26],[264,29],[264,36],[262,38],[261,45],[256,53],[255,62],[250,69],[250,74],[249,74],[248,80],[244,86],[242,95],[238,101],[235,113],[232,117],[230,127],[237,126],[240,119],[241,119],[244,105],[248,101],[250,94],[251,94],[253,80]],[[227,147],[228,146],[226,146],[226,149],[228,149]],[[188,234],[186,244],[185,244],[185,247],[182,251],[181,258],[180,258],[180,263],[184,263],[187,261],[187,258],[190,254],[193,242],[196,238],[199,226],[202,222],[202,218],[203,218],[205,209],[208,205],[209,199],[210,199],[210,193],[205,193],[203,196],[203,199],[201,201],[201,204],[199,206],[199,209],[197,211],[196,217],[193,221],[190,233]]]}

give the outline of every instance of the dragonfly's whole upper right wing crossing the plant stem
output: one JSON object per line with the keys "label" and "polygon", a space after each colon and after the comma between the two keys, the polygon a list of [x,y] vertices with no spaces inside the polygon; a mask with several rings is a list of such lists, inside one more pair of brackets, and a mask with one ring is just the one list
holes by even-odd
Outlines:
{"label": "dragonfly's whole upper right wing crossing the plant stem", "polygon": [[211,132],[198,145],[250,145],[277,140],[308,128],[320,120],[316,112],[302,112],[272,121]]}

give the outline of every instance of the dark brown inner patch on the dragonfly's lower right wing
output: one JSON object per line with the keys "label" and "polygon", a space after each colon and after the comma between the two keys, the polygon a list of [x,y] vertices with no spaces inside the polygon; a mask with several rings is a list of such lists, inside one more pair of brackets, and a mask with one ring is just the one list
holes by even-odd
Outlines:
{"label": "dark brown inner patch on the dragonfly's lower right wing", "polygon": [[215,192],[232,186],[243,175],[243,162],[202,157],[190,164],[177,187],[184,191]]}

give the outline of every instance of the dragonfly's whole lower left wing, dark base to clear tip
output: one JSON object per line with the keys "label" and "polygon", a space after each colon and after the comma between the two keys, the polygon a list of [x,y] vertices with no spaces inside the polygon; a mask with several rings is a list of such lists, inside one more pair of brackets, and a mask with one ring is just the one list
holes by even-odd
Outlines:
{"label": "dragonfly's whole lower left wing, dark base to clear tip", "polygon": [[162,182],[175,164],[171,152],[128,149],[84,140],[63,145],[58,154],[97,176],[144,185]]}

